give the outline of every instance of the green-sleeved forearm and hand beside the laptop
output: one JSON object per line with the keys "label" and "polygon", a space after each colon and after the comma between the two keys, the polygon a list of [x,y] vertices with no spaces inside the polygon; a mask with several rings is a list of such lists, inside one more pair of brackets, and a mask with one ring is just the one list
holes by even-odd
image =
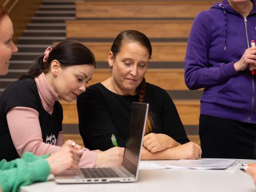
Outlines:
{"label": "green-sleeved forearm and hand beside the laptop", "polygon": [[47,181],[49,174],[58,174],[66,169],[78,168],[83,153],[79,144],[72,148],[74,143],[68,140],[61,150],[44,155],[35,156],[26,152],[20,159],[7,162],[0,161],[0,186],[3,192],[19,192],[21,186],[34,182]]}

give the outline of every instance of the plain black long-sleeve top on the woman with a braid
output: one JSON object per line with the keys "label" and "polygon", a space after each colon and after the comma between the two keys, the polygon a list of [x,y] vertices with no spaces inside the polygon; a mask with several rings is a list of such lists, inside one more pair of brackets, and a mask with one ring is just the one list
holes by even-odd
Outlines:
{"label": "plain black long-sleeve top on the woman with a braid", "polygon": [[[85,147],[102,151],[113,147],[114,134],[118,146],[125,147],[129,128],[131,103],[139,95],[121,96],[101,83],[86,89],[77,98],[79,130]],[[189,142],[176,107],[168,93],[160,87],[146,83],[145,102],[149,103],[152,132],[169,135],[176,142]]]}

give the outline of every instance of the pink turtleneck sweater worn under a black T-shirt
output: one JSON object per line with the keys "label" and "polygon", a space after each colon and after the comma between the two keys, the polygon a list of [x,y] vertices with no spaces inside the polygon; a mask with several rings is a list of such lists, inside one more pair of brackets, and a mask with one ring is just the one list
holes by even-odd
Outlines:
{"label": "pink turtleneck sweater worn under a black T-shirt", "polygon": [[[36,86],[44,109],[52,114],[54,102],[60,97],[48,83],[44,73],[35,78]],[[30,151],[41,156],[58,151],[64,144],[63,131],[59,132],[56,145],[43,142],[39,123],[39,113],[28,107],[13,107],[7,112],[7,122],[16,150],[21,157]],[[84,151],[80,159],[80,167],[93,167],[96,161],[96,152]]]}

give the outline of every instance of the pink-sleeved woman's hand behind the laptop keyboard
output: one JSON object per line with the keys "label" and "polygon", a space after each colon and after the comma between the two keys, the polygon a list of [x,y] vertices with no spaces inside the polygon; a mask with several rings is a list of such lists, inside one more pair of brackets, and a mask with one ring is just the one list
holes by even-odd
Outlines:
{"label": "pink-sleeved woman's hand behind the laptop keyboard", "polygon": [[125,148],[112,147],[101,153],[97,153],[96,167],[119,166],[123,162]]}

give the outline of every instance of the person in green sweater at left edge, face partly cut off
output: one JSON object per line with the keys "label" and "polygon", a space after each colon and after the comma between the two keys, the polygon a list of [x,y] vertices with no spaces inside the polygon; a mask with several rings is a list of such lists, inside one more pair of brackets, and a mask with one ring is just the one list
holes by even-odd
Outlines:
{"label": "person in green sweater at left edge, face partly cut off", "polygon": [[[11,55],[18,50],[12,36],[12,21],[0,5],[0,75],[7,74]],[[1,160],[0,192],[18,192],[20,186],[46,181],[49,174],[78,168],[82,153],[79,144],[68,140],[59,151],[52,154],[38,157],[26,152],[20,159],[9,162]]]}

